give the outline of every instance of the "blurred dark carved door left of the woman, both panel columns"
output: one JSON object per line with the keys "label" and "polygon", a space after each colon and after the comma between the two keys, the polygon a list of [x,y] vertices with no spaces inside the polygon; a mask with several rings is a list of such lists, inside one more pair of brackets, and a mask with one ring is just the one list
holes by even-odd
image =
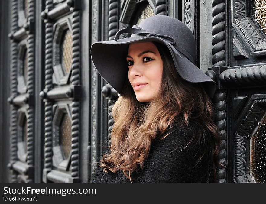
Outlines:
{"label": "blurred dark carved door left of the woman, both panel columns", "polygon": [[[13,0],[9,5],[10,181],[87,182],[91,161],[102,149],[91,147],[105,144],[108,117],[101,94],[105,82],[85,55],[92,37],[108,27],[95,24],[92,30],[108,2],[35,3]],[[100,12],[92,18],[92,10]]]}

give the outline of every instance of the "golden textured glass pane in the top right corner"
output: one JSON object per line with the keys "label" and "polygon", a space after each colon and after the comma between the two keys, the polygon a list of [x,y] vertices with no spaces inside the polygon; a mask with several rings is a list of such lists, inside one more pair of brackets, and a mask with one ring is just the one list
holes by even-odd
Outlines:
{"label": "golden textured glass pane in the top right corner", "polygon": [[261,30],[266,34],[266,0],[252,1],[252,15]]}

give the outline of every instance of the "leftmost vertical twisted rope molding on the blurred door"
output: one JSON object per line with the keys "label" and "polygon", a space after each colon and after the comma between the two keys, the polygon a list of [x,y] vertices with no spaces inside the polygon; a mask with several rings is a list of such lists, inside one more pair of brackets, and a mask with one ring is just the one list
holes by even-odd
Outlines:
{"label": "leftmost vertical twisted rope molding on the blurred door", "polygon": [[[18,1],[12,0],[12,14],[11,14],[11,35],[10,37],[18,31]],[[11,37],[12,39],[12,37]],[[11,41],[11,99],[15,98],[17,96],[17,59],[18,59],[18,47],[17,43],[14,39]],[[18,160],[17,155],[17,121],[18,121],[18,112],[17,108],[14,105],[11,105],[11,161],[9,163],[9,167],[12,166],[12,164]],[[12,170],[11,171],[11,182],[15,183],[17,182],[17,173]]]}

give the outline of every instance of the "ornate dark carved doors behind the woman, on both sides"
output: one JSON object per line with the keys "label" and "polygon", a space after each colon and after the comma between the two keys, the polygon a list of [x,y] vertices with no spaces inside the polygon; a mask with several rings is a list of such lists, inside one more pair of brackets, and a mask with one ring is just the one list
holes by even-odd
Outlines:
{"label": "ornate dark carved doors behind the woman, on both sides", "polygon": [[109,110],[119,97],[96,71],[90,47],[149,16],[169,15],[191,29],[197,66],[217,83],[224,165],[217,166],[218,182],[265,182],[265,1],[12,0],[1,6],[10,8],[11,19],[3,31],[10,62],[1,55],[10,67],[1,70],[1,108],[10,96],[1,119],[10,121],[1,123],[0,144],[11,140],[10,153],[1,149],[11,171],[2,180],[88,182],[110,142]]}

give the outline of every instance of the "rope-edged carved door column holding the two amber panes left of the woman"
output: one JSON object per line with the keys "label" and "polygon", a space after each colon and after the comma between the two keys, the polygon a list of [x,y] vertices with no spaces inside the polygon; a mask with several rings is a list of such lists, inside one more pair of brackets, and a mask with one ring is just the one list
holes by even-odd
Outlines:
{"label": "rope-edged carved door column holding the two amber panes left of the woman", "polygon": [[43,182],[79,182],[80,1],[45,1]]}

